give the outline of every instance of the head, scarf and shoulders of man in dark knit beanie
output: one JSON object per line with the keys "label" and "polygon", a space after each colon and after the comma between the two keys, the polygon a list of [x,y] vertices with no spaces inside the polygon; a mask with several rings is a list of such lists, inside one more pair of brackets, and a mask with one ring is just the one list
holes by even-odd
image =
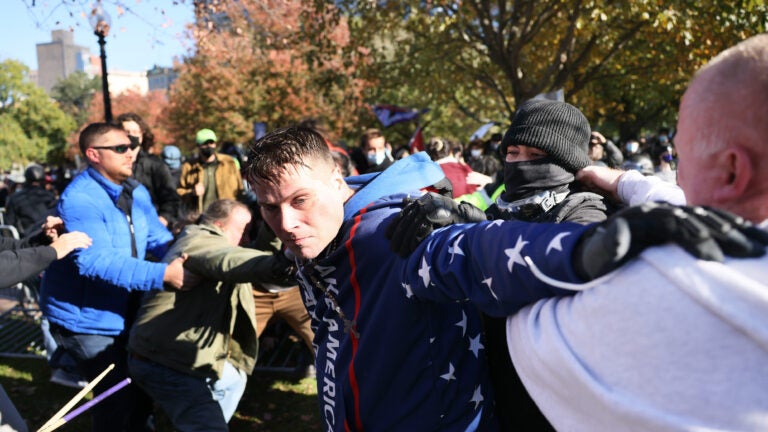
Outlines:
{"label": "head, scarf and shoulders of man in dark knit beanie", "polygon": [[504,134],[504,187],[488,209],[494,219],[590,223],[605,220],[602,197],[573,188],[575,173],[592,164],[590,129],[573,105],[531,100]]}

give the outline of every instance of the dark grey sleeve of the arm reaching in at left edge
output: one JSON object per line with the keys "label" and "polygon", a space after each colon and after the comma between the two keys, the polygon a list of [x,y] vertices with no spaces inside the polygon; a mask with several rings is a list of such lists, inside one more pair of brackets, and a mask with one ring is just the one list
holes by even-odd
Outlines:
{"label": "dark grey sleeve of the arm reaching in at left edge", "polygon": [[0,288],[24,281],[45,270],[56,260],[56,250],[50,246],[36,246],[47,239],[43,234],[31,241],[0,237]]}

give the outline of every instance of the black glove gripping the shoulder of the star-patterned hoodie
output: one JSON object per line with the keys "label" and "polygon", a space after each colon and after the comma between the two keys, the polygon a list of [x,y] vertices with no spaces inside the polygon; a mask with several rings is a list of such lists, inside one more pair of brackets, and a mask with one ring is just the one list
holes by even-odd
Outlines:
{"label": "black glove gripping the shoulder of the star-patterned hoodie", "polygon": [[437,228],[457,223],[481,222],[485,213],[472,204],[427,193],[421,198],[403,200],[405,207],[387,227],[389,248],[401,257],[408,256]]}

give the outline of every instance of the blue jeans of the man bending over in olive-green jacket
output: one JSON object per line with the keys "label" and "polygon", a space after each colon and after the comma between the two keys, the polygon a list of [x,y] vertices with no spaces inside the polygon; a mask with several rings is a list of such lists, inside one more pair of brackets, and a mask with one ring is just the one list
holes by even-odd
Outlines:
{"label": "blue jeans of the man bending over in olive-green jacket", "polygon": [[219,380],[185,374],[136,356],[128,359],[128,368],[180,432],[227,431],[247,381],[245,373],[229,362]]}

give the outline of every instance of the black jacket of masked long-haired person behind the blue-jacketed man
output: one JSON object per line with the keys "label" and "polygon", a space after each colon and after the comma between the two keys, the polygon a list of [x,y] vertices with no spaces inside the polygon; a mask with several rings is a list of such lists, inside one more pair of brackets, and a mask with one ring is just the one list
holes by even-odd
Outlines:
{"label": "black jacket of masked long-haired person behind the blue-jacketed man", "polygon": [[133,177],[149,191],[158,216],[169,223],[178,218],[181,206],[181,198],[176,192],[178,181],[173,179],[170,168],[162,159],[140,151],[133,166]]}

